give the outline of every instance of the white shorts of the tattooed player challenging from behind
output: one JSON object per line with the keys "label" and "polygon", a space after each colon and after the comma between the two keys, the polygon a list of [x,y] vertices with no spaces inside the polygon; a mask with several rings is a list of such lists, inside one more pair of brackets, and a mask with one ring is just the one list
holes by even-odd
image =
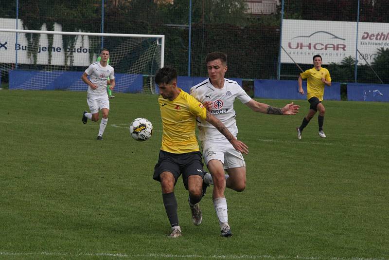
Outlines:
{"label": "white shorts of the tattooed player challenging from behind", "polygon": [[219,160],[225,169],[246,167],[242,153],[235,150],[227,139],[225,141],[203,141],[201,146],[205,165],[208,165],[211,160]]}

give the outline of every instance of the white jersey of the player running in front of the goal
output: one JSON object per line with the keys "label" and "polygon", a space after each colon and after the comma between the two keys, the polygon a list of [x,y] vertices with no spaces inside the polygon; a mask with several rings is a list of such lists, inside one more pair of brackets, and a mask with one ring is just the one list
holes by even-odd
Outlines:
{"label": "white jersey of the player running in front of the goal", "polygon": [[90,64],[88,69],[85,70],[85,73],[88,74],[90,82],[97,86],[97,89],[95,90],[88,87],[88,94],[106,94],[106,78],[115,78],[114,69],[108,64],[106,67],[103,67],[100,62]]}

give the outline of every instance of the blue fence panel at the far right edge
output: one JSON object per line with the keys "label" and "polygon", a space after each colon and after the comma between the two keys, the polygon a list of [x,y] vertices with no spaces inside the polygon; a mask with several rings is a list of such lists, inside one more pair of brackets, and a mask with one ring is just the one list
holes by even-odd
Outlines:
{"label": "blue fence panel at the far right edge", "polygon": [[389,102],[389,85],[347,83],[347,100]]}

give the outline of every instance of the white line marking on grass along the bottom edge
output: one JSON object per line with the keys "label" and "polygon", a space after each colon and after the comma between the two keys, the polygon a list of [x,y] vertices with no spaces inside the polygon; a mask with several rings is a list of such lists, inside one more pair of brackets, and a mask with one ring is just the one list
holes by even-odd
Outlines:
{"label": "white line marking on grass along the bottom edge", "polygon": [[117,257],[117,258],[205,258],[205,259],[297,259],[297,260],[388,260],[387,258],[342,258],[342,257],[302,257],[302,256],[270,256],[270,255],[213,255],[213,256],[201,256],[201,255],[171,255],[171,254],[123,254],[123,253],[53,253],[53,252],[0,252],[0,256],[69,256],[69,257]]}

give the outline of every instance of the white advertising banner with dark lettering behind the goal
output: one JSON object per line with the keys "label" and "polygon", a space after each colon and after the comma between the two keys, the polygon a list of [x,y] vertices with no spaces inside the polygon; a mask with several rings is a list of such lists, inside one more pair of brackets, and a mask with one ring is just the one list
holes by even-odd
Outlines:
{"label": "white advertising banner with dark lettering behind the goal", "polygon": [[[15,29],[16,19],[0,18],[1,29]],[[18,20],[18,29],[22,30],[22,22]],[[46,31],[46,24],[43,24],[41,31]],[[62,26],[58,23],[54,24],[54,31],[62,31]],[[68,36],[71,37],[71,36]],[[35,64],[34,57],[28,56],[29,41],[24,33],[0,32],[0,56],[1,63],[16,63],[16,57],[18,58],[18,64]],[[30,44],[31,46],[31,44]],[[16,55],[18,52],[18,55]],[[91,61],[89,60],[89,53],[92,50],[89,49],[88,36],[78,36],[73,48],[63,46],[62,35],[53,35],[53,46],[51,47],[51,65],[65,65],[65,53],[73,54],[72,64],[71,59],[67,59],[68,66],[89,66]],[[93,59],[95,60],[95,59]],[[49,64],[49,41],[46,34],[40,34],[39,46],[37,47],[36,64]]]}

